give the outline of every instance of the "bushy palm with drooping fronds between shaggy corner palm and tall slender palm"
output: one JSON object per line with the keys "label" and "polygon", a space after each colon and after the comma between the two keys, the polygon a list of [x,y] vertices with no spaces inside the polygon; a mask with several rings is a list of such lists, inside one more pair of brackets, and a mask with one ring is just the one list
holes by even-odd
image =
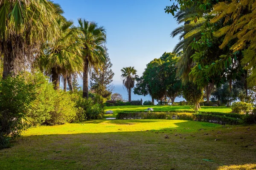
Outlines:
{"label": "bushy palm with drooping fronds between shaggy corner palm and tall slender palm", "polygon": [[[59,88],[60,76],[67,82],[70,74],[83,70],[82,59],[83,42],[80,39],[82,32],[73,26],[73,21],[60,16],[57,19],[60,28],[60,36],[54,43],[46,44],[43,54],[39,59],[39,65],[45,74],[50,75],[55,89]],[[65,90],[65,89],[64,89]]]}

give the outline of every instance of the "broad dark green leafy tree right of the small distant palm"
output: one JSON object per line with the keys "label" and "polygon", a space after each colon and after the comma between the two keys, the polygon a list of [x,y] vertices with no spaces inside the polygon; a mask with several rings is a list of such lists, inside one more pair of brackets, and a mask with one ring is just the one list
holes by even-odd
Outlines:
{"label": "broad dark green leafy tree right of the small distant palm", "polygon": [[181,95],[181,81],[175,76],[178,59],[175,54],[165,52],[159,59],[148,63],[143,76],[137,78],[134,94],[150,94],[152,102],[154,99],[162,102],[170,99],[173,104]]}

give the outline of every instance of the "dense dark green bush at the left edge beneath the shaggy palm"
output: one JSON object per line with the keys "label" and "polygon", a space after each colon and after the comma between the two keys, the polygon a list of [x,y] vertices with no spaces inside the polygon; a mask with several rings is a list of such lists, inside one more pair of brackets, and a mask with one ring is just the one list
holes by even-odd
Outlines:
{"label": "dense dark green bush at the left edge beneath the shaggy palm", "polygon": [[26,83],[21,76],[0,81],[0,145],[8,147],[9,139],[21,135],[31,125],[26,113],[32,109],[35,85]]}

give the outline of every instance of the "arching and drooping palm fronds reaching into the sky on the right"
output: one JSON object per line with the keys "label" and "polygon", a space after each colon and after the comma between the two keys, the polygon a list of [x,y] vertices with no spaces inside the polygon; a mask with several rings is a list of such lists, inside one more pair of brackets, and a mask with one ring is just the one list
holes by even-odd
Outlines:
{"label": "arching and drooping palm fronds reaching into the sky on the right", "polygon": [[183,23],[171,33],[171,37],[176,37],[180,34],[178,44],[175,46],[173,52],[178,53],[183,51],[180,60],[177,62],[177,77],[179,77],[183,84],[189,81],[189,73],[195,63],[193,63],[191,56],[195,53],[190,45],[193,41],[201,38],[201,26],[206,21],[204,18],[199,18],[202,11],[199,8],[192,7],[180,10],[175,15],[177,23]]}

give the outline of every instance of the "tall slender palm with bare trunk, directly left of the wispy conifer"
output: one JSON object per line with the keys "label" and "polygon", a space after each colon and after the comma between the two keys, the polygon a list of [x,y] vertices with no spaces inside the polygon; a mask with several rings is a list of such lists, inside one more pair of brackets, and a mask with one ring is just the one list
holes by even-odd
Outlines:
{"label": "tall slender palm with bare trunk, directly left of the wispy conifer", "polygon": [[79,29],[84,33],[83,59],[83,97],[88,99],[88,74],[93,69],[98,74],[98,69],[102,67],[106,59],[106,48],[103,46],[107,40],[106,31],[103,26],[98,26],[95,22],[78,20]]}

